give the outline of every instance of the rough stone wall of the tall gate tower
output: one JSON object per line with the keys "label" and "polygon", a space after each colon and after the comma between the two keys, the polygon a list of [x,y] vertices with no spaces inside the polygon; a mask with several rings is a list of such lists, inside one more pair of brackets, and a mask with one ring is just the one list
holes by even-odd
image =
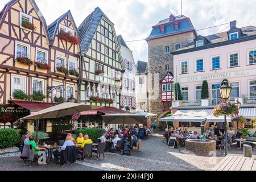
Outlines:
{"label": "rough stone wall of the tall gate tower", "polygon": [[[170,52],[175,50],[176,44],[182,47],[193,39],[195,39],[193,32],[187,32],[148,41],[148,110],[150,113],[157,114],[159,117],[164,112],[159,81],[167,72],[165,65],[169,64],[170,71],[174,72],[174,58]],[[164,50],[166,46],[170,46],[168,53]]]}

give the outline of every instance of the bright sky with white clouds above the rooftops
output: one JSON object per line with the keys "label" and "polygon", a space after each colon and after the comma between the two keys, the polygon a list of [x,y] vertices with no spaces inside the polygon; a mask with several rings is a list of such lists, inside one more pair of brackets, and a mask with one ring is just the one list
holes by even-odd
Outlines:
{"label": "bright sky with white clouds above the rooftops", "polygon": [[[9,0],[0,0],[0,9]],[[181,14],[181,0],[35,0],[47,24],[69,9],[77,27],[96,7],[115,24],[117,35],[125,41],[146,39],[152,26],[171,14]],[[183,15],[188,16],[196,30],[237,20],[237,27],[256,26],[256,0],[183,0]],[[198,31],[210,35],[228,31],[229,24]],[[147,61],[147,42],[127,42],[135,62]]]}

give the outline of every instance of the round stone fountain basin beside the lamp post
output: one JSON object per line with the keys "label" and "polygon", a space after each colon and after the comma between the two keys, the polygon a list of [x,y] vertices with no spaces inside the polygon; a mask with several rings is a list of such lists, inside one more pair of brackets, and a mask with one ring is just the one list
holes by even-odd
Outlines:
{"label": "round stone fountain basin beside the lamp post", "polygon": [[206,140],[201,142],[200,139],[188,139],[185,140],[186,150],[193,152],[200,156],[212,156],[213,152],[216,152],[216,141]]}

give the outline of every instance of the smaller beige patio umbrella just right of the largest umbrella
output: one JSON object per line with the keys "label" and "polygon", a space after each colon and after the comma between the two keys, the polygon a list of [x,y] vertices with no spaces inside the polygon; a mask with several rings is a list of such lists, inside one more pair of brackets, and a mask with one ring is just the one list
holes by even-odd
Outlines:
{"label": "smaller beige patio umbrella just right of the largest umbrella", "polygon": [[143,123],[145,116],[137,114],[107,114],[101,116],[107,124],[137,124]]}

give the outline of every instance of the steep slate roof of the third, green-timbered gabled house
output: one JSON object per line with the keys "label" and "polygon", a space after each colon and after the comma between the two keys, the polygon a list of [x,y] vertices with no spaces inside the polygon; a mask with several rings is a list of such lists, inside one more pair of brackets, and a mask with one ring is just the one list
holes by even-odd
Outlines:
{"label": "steep slate roof of the third, green-timbered gabled house", "polygon": [[[96,7],[96,9],[89,14],[79,26],[79,40],[82,53],[88,51],[102,17],[109,20],[108,16],[106,16],[99,7]],[[109,22],[112,23],[110,20]]]}

